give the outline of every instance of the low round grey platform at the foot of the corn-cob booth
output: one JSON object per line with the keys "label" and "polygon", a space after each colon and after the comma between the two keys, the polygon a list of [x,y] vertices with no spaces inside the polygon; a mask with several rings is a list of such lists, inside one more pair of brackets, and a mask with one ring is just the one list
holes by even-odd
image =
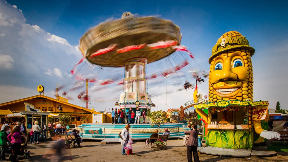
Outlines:
{"label": "low round grey platform at the foot of the corn-cob booth", "polygon": [[203,154],[226,156],[226,157],[268,157],[277,155],[274,151],[257,151],[244,149],[228,149],[218,147],[198,147],[198,151]]}

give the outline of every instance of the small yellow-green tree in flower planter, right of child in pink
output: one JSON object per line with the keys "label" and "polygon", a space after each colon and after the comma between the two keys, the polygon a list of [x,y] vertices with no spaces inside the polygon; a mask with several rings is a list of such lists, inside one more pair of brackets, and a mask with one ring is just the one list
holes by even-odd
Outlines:
{"label": "small yellow-green tree in flower planter, right of child in pink", "polygon": [[167,122],[166,113],[163,113],[162,111],[151,111],[147,113],[147,117],[150,119],[150,125],[153,127],[154,125],[158,126],[158,139],[160,138],[160,125],[164,125],[165,122]]}

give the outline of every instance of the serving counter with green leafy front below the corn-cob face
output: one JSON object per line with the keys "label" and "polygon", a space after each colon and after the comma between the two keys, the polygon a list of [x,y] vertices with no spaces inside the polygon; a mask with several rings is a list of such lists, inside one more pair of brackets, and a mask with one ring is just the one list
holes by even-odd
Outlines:
{"label": "serving counter with green leafy front below the corn-cob face", "polygon": [[[194,107],[196,111],[208,108],[206,146],[252,149],[254,143],[252,123],[254,120],[266,118],[268,101],[229,100],[202,103]],[[252,110],[255,113],[252,113]],[[230,124],[219,124],[222,117],[225,117]]]}

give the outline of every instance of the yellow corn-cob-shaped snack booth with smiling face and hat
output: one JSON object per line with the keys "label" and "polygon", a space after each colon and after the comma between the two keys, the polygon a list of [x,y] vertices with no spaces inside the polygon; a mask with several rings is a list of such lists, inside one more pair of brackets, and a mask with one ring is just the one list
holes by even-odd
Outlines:
{"label": "yellow corn-cob-shaped snack booth with smiling face and hat", "polygon": [[[212,48],[209,100],[194,105],[206,128],[208,147],[200,152],[213,154],[209,149],[228,148],[217,155],[233,154],[229,149],[249,150],[239,152],[241,156],[275,154],[252,150],[255,143],[280,138],[279,133],[268,131],[268,101],[253,100],[254,53],[246,37],[236,31],[223,34]],[[199,100],[199,94],[194,95],[195,100]],[[208,113],[202,109],[208,109]]]}

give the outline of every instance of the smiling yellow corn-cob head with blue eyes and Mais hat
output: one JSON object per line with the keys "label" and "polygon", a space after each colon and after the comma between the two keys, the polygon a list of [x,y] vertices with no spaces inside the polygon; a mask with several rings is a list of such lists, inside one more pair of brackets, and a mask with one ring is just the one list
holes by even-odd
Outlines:
{"label": "smiling yellow corn-cob head with blue eyes and Mais hat", "polygon": [[253,68],[255,49],[237,31],[223,34],[212,48],[209,58],[209,101],[253,100]]}

